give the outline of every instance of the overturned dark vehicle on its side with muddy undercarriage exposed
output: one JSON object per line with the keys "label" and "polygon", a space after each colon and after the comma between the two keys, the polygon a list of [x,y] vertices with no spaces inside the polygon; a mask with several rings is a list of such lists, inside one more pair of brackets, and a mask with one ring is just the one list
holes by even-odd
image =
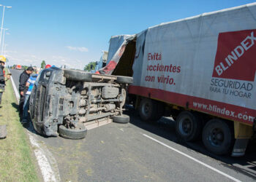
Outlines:
{"label": "overturned dark vehicle on its side with muddy undercarriage exposed", "polygon": [[90,74],[85,71],[48,68],[34,84],[29,102],[31,120],[42,135],[80,139],[86,136],[83,123],[127,123],[122,114],[127,84],[132,77]]}

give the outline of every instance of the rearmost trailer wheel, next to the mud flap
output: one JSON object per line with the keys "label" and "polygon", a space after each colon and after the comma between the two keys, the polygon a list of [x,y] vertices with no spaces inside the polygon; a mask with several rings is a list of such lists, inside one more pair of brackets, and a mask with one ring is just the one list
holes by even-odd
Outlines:
{"label": "rearmost trailer wheel, next to the mud flap", "polygon": [[221,119],[211,119],[203,128],[203,144],[214,154],[227,154],[233,146],[230,127]]}

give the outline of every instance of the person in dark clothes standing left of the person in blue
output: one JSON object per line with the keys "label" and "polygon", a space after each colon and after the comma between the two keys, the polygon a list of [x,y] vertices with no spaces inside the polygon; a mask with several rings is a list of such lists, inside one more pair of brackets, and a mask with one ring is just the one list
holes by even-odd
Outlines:
{"label": "person in dark clothes standing left of the person in blue", "polygon": [[25,71],[23,71],[22,74],[20,74],[20,84],[19,84],[19,92],[20,92],[20,104],[19,104],[19,112],[20,112],[20,118],[22,118],[23,115],[23,104],[25,101],[25,93],[26,93],[26,82],[29,79],[30,74],[32,74],[34,69],[29,66]]}

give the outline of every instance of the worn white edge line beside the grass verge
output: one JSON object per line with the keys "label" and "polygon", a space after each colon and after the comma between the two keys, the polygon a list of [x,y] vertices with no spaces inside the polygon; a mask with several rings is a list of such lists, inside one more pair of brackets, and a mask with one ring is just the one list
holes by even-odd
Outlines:
{"label": "worn white edge line beside the grass verge", "polygon": [[[8,69],[9,73],[10,70]],[[12,79],[11,76],[11,80],[12,80],[12,87],[14,89],[16,98],[19,102],[20,99],[20,95],[18,94],[18,90],[15,86],[15,83]],[[30,126],[31,129],[31,126]],[[35,132],[34,128],[31,130],[31,132]],[[59,169],[57,167],[57,163],[56,160],[53,157],[53,154],[50,154],[50,151],[48,151],[47,149],[42,149],[41,144],[38,143],[38,141],[36,140],[36,138],[27,131],[28,135],[29,135],[29,141],[31,143],[32,146],[34,146],[34,154],[37,158],[37,163],[39,165],[39,168],[41,170],[42,173],[42,178],[45,182],[48,181],[61,181],[60,175],[59,175]],[[53,167],[51,167],[50,162],[48,161],[48,158],[46,157],[45,154],[48,154],[48,157],[51,159],[51,163],[56,166],[54,168],[54,172],[53,172]]]}

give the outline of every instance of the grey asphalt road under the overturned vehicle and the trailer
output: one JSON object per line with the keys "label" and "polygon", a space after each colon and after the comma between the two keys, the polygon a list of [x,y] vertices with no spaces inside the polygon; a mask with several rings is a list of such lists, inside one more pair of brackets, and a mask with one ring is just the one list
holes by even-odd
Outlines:
{"label": "grey asphalt road under the overturned vehicle and the trailer", "polygon": [[[11,73],[18,85],[20,71]],[[61,181],[256,180],[252,143],[245,157],[218,157],[209,154],[200,141],[178,141],[175,122],[170,118],[142,122],[132,107],[127,114],[129,124],[97,127],[79,141],[37,135],[56,159]]]}

